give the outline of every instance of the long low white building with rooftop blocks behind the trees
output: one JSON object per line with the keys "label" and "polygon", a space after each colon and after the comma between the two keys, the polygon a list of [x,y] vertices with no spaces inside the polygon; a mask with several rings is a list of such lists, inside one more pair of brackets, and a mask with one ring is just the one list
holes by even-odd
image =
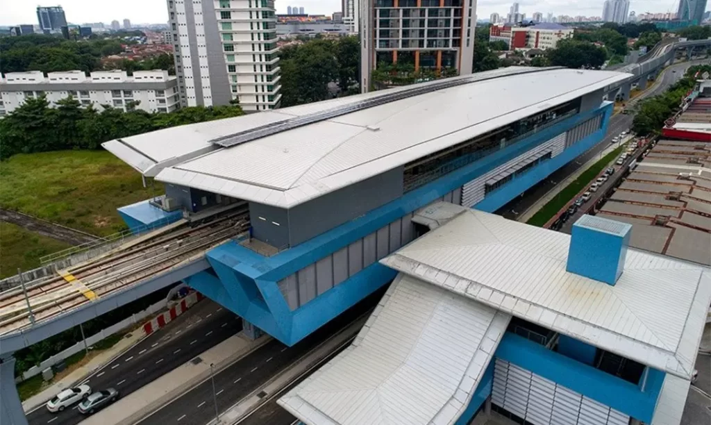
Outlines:
{"label": "long low white building with rooftop blocks behind the trees", "polygon": [[97,71],[86,75],[83,71],[8,72],[0,80],[0,117],[12,112],[28,97],[45,95],[50,104],[60,99],[75,97],[82,106],[94,105],[102,109],[143,109],[146,112],[172,112],[180,107],[176,77],[168,71]]}

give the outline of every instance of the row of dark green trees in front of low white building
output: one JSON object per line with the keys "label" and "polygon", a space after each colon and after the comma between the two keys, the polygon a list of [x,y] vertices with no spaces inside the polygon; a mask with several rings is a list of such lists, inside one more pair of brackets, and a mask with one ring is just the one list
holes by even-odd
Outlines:
{"label": "row of dark green trees in front of low white building", "polygon": [[77,99],[61,99],[50,107],[45,97],[26,99],[0,120],[0,158],[18,153],[61,149],[99,149],[105,141],[194,122],[243,114],[239,105],[188,107],[154,113],[134,109],[123,112],[104,105],[81,107]]}

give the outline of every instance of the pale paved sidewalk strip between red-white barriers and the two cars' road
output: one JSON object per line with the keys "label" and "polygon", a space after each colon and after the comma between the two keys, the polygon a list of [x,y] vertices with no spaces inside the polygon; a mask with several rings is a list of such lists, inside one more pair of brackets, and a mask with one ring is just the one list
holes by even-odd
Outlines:
{"label": "pale paved sidewalk strip between red-white barriers and the two cars' road", "polygon": [[124,351],[128,350],[129,348],[132,348],[145,337],[146,335],[140,329],[137,332],[133,332],[130,335],[127,335],[126,338],[122,338],[121,340],[119,340],[118,343],[114,344],[112,348],[103,350],[101,353],[97,354],[95,357],[89,360],[85,365],[77,367],[77,369],[73,370],[71,373],[58,380],[57,382],[54,382],[39,394],[35,394],[32,397],[26,399],[24,402],[22,402],[23,410],[26,413],[32,411],[36,409],[36,407],[40,407],[46,402],[48,402],[52,397],[57,395],[63,389],[74,387],[78,382],[101,370],[114,357],[117,357],[124,353]]}

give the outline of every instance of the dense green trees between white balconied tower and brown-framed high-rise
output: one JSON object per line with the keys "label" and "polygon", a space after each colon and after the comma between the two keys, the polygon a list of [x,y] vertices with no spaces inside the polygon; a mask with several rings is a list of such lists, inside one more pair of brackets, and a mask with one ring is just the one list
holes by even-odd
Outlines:
{"label": "dense green trees between white balconied tower and brown-framed high-rise", "polygon": [[342,95],[360,92],[358,37],[311,39],[279,51],[282,67],[282,107],[329,99],[328,83],[336,82]]}

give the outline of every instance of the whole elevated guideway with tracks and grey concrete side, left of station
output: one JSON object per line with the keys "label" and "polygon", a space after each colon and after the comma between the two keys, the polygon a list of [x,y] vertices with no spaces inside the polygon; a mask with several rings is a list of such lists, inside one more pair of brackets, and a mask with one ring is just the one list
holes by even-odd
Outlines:
{"label": "whole elevated guideway with tracks and grey concrete side, left of station", "polygon": [[106,254],[0,293],[0,355],[208,269],[205,252],[249,230],[247,205],[179,220]]}

